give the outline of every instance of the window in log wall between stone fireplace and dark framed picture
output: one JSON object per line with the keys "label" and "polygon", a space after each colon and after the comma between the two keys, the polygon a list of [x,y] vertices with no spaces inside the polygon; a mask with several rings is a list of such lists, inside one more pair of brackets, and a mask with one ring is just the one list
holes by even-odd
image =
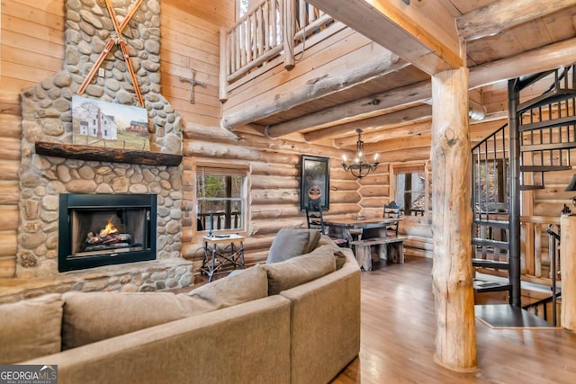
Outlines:
{"label": "window in log wall between stone fireplace and dark framed picture", "polygon": [[233,166],[196,167],[197,231],[245,229],[247,167]]}

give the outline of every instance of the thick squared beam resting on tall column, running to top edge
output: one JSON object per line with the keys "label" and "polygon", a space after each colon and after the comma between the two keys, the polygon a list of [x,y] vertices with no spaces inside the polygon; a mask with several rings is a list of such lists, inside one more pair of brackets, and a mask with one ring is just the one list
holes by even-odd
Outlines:
{"label": "thick squared beam resting on tall column, running to top edge", "polygon": [[463,67],[454,17],[438,2],[309,0],[429,75]]}

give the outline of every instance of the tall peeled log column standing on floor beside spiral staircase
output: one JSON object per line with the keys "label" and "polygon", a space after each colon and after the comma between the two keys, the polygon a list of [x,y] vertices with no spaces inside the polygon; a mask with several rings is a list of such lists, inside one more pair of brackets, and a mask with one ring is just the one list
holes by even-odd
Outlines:
{"label": "tall peeled log column standing on floor beside spiral staircase", "polygon": [[432,76],[433,290],[437,363],[476,369],[468,69]]}

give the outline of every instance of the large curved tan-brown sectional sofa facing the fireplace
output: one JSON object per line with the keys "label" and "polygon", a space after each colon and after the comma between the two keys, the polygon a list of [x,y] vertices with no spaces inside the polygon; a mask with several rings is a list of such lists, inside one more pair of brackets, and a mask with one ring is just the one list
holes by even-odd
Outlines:
{"label": "large curved tan-brown sectional sofa facing the fireplace", "polygon": [[[327,254],[332,272],[314,276],[329,264]],[[300,281],[299,265],[310,281]],[[59,383],[325,383],[360,348],[360,269],[329,237],[307,255],[257,265],[187,295],[122,295],[47,295],[57,309],[52,317],[61,308],[64,350],[17,363],[57,364]],[[160,304],[146,303],[158,295],[151,300]],[[156,313],[150,321],[160,324],[139,329],[139,312]],[[11,336],[0,331],[0,344],[3,337]],[[43,330],[40,343],[49,345],[47,337]],[[3,353],[0,347],[0,362]]]}

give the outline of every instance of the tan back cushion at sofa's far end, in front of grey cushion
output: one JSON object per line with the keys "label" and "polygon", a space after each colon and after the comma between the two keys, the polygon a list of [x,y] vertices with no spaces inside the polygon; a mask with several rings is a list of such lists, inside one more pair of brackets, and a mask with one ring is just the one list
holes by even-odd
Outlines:
{"label": "tan back cushion at sofa's far end, in front of grey cushion", "polygon": [[336,270],[332,247],[319,246],[306,255],[281,263],[261,264],[268,275],[268,295],[276,295]]}

